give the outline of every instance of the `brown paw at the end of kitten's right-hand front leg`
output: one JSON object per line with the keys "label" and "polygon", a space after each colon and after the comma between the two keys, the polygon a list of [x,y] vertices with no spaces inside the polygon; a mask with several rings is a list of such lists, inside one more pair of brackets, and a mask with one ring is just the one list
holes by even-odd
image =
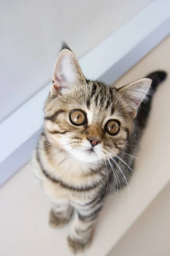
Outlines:
{"label": "brown paw at the end of kitten's right-hand front leg", "polygon": [[70,249],[71,252],[74,253],[75,255],[77,255],[77,254],[79,254],[79,253],[83,253],[84,250],[85,250],[86,248],[88,248],[89,245],[90,245],[90,242],[84,244],[84,243],[81,243],[80,241],[76,241],[76,240],[71,239],[70,236],[68,236],[67,241],[68,241],[68,247],[69,247],[69,249]]}

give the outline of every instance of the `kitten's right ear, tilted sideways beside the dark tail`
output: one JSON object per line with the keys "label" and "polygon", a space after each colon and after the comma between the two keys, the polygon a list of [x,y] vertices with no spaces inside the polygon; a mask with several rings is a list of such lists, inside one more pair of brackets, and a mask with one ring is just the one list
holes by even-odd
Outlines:
{"label": "kitten's right ear, tilted sideways beside the dark tail", "polygon": [[125,108],[134,119],[137,115],[137,110],[146,97],[152,80],[149,78],[142,78],[127,84],[118,89],[118,93],[125,100]]}

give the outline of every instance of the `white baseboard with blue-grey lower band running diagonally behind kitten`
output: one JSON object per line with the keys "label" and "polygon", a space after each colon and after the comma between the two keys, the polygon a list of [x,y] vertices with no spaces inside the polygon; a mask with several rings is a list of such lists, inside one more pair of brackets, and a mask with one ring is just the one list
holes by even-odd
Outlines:
{"label": "white baseboard with blue-grey lower band running diagonally behind kitten", "polygon": [[[169,34],[170,1],[155,0],[79,59],[80,66],[87,78],[113,84]],[[37,140],[31,138],[40,134],[49,86],[0,123],[0,185],[31,157]]]}

